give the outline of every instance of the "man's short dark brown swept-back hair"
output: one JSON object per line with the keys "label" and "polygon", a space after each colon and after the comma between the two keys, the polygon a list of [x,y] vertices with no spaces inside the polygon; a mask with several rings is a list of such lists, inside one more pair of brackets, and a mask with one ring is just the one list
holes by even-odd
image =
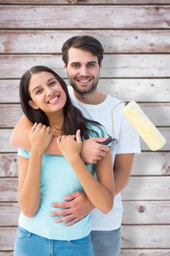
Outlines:
{"label": "man's short dark brown swept-back hair", "polygon": [[104,48],[98,39],[90,36],[76,36],[66,40],[62,47],[62,59],[66,65],[69,61],[68,51],[71,47],[89,51],[93,56],[97,56],[98,64],[101,64]]}

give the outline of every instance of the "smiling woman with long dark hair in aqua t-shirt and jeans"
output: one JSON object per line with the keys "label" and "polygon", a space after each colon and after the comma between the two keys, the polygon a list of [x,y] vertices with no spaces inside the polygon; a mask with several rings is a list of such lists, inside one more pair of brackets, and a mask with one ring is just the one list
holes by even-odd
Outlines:
{"label": "smiling woman with long dark hair in aqua t-shirt and jeans", "polygon": [[[72,105],[63,79],[47,67],[32,67],[23,75],[20,102],[34,126],[29,135],[31,151],[18,149],[21,213],[15,256],[92,256],[90,214],[66,227],[54,222],[50,212],[54,201],[77,190],[84,191],[100,211],[112,209],[110,151],[94,166],[85,165],[80,158],[82,140],[106,136],[104,128],[82,116]],[[51,140],[56,140],[62,155],[45,154]]]}

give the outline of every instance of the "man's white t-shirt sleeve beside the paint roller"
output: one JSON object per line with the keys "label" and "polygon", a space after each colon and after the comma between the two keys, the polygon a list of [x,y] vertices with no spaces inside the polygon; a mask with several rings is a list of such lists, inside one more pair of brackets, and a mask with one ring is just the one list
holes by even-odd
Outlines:
{"label": "man's white t-shirt sleeve beside the paint roller", "polygon": [[122,116],[116,154],[140,153],[139,135],[125,116]]}

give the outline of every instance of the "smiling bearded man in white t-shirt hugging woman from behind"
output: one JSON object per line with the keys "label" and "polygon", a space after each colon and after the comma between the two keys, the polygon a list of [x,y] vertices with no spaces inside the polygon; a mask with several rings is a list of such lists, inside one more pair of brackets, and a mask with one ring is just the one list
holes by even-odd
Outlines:
{"label": "smiling bearded man in white t-shirt hugging woman from behind", "polygon": [[[74,225],[93,210],[91,235],[94,255],[117,256],[120,253],[120,225],[123,214],[120,192],[128,184],[134,154],[140,152],[140,147],[138,135],[122,114],[123,104],[121,101],[103,94],[97,89],[103,53],[104,49],[101,43],[89,36],[72,37],[62,47],[64,68],[72,86],[69,89],[69,94],[73,104],[82,110],[85,117],[104,125],[108,134],[117,139],[117,145],[112,148],[116,195],[114,207],[109,214],[101,214],[97,209],[93,209],[93,205],[85,194],[74,192],[63,198],[64,203],[53,203],[53,215],[56,217],[63,215],[64,217],[58,218],[58,222],[66,222],[66,225],[69,226]],[[11,138],[11,142],[15,146],[22,147],[19,143],[19,130],[24,130],[24,125],[28,127],[28,121],[26,118],[23,119],[25,121],[21,119]],[[98,143],[102,141],[104,139],[96,138],[83,143],[81,154],[85,162],[96,163],[106,154],[107,146]],[[51,146],[51,151],[48,152],[54,153],[54,151],[55,149]],[[55,208],[64,209],[57,211]]]}

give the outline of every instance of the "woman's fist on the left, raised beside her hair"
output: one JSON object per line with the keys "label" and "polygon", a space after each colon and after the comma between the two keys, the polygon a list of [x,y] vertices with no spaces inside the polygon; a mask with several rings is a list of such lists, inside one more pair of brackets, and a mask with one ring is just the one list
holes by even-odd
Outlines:
{"label": "woman's fist on the left, raised beside her hair", "polygon": [[50,127],[46,127],[45,124],[35,123],[31,128],[29,138],[31,141],[31,149],[34,148],[39,153],[43,154],[53,138],[53,133]]}

